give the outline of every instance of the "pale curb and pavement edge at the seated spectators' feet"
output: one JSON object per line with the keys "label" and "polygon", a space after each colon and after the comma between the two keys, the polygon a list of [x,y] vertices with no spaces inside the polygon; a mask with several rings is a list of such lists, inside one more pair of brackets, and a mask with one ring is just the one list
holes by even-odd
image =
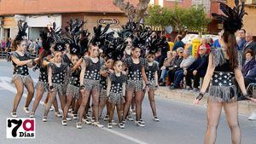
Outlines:
{"label": "pale curb and pavement edge at the seated spectators' feet", "polygon": [[[195,101],[195,97],[198,95],[198,92],[194,92],[193,90],[186,89],[168,89],[168,87],[160,87],[160,89],[155,90],[155,96],[166,98],[173,101],[181,101],[189,104],[193,104]],[[201,100],[199,106],[206,107],[207,106],[207,95]],[[249,116],[252,112],[256,110],[256,103],[249,101],[239,101],[238,102],[238,112],[239,114],[243,114]]]}

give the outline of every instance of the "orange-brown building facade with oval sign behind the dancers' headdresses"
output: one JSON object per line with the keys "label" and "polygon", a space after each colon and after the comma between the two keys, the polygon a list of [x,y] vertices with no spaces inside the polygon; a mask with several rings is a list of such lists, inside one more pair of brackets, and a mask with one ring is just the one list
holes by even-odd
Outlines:
{"label": "orange-brown building facade with oval sign behind the dancers' headdresses", "polygon": [[[127,0],[137,4],[138,0]],[[53,22],[58,27],[67,26],[70,19],[85,20],[84,29],[93,33],[93,26],[110,24],[119,29],[127,21],[125,14],[113,5],[113,0],[1,0],[0,39],[14,38],[18,32],[17,21],[26,21],[28,38],[35,40]]]}

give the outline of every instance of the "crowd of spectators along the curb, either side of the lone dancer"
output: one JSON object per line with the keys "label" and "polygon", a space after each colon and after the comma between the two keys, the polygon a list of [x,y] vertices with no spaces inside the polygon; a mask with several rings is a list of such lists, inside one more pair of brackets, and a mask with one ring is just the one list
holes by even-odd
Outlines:
{"label": "crowd of spectators along the curb, either side of the lone dancer", "polygon": [[[242,73],[245,84],[256,83],[256,43],[253,41],[253,34],[244,29],[237,33],[237,49],[242,55]],[[218,34],[218,39],[220,34]],[[201,38],[201,44],[196,54],[192,56],[192,46],[185,47],[182,39],[181,35],[177,35],[173,46],[169,44],[170,50],[166,52],[163,65],[160,65],[160,86],[198,91],[207,72],[209,53],[211,49],[218,49],[221,45],[218,39],[213,41],[212,38]]]}

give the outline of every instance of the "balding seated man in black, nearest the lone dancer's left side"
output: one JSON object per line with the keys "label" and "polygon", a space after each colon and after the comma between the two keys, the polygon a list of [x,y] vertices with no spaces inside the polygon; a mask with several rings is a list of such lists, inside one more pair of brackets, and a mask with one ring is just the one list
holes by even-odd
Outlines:
{"label": "balding seated man in black, nearest the lone dancer's left side", "polygon": [[193,62],[188,69],[184,70],[184,75],[186,79],[186,85],[188,89],[192,89],[191,80],[194,80],[194,91],[199,90],[200,86],[200,78],[204,78],[207,73],[207,66],[208,66],[208,54],[207,54],[207,47],[201,45],[199,49],[199,55],[196,60]]}

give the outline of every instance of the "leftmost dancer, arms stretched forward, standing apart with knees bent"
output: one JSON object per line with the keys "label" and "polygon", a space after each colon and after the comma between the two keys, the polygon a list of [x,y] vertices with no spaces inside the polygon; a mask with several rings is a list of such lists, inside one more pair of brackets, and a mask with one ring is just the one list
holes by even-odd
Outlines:
{"label": "leftmost dancer, arms stretched forward, standing apart with knees bent", "polygon": [[17,107],[20,103],[21,96],[23,95],[24,86],[27,89],[26,104],[24,111],[29,113],[29,104],[32,101],[34,95],[34,84],[32,78],[29,75],[28,67],[36,65],[38,58],[32,59],[30,54],[26,51],[26,28],[28,27],[26,22],[22,25],[21,21],[18,21],[19,32],[13,42],[14,52],[11,53],[11,60],[14,65],[13,81],[17,89],[15,95],[14,107],[11,112],[11,116],[17,117]]}

